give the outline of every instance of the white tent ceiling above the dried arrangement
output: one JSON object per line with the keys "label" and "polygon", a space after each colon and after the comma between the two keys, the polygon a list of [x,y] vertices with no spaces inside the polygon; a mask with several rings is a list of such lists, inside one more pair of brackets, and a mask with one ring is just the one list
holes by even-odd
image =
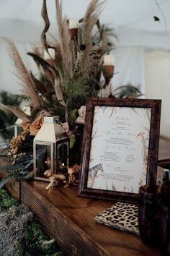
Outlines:
{"label": "white tent ceiling above the dried arrangement", "polygon": [[[89,2],[63,0],[63,14],[71,19],[80,19]],[[55,35],[55,0],[47,0],[47,6],[50,33]],[[18,42],[40,42],[43,28],[41,8],[42,0],[1,0],[0,36],[9,36]],[[170,48],[169,14],[170,0],[106,0],[100,21],[115,29],[119,38],[117,44],[121,46]],[[157,16],[160,21],[155,22],[153,16]]]}

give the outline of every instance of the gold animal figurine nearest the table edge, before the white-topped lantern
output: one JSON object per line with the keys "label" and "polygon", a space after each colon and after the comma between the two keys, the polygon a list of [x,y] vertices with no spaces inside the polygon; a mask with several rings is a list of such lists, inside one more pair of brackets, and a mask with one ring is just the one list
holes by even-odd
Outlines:
{"label": "gold animal figurine nearest the table edge, before the white-topped lantern", "polygon": [[53,185],[58,185],[60,182],[63,182],[63,184],[65,184],[64,187],[68,187],[68,182],[64,174],[53,174],[51,170],[47,170],[45,171],[44,176],[50,179],[50,184],[45,187],[45,189],[47,189],[48,191],[50,191],[49,189],[53,187]]}

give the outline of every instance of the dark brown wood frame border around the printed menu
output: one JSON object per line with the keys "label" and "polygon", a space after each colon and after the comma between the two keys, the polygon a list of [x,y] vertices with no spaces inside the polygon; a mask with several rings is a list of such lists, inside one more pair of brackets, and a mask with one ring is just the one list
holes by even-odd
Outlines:
{"label": "dark brown wood frame border around the printed menu", "polygon": [[91,132],[93,127],[95,106],[118,106],[130,108],[151,108],[151,129],[148,148],[148,178],[147,184],[156,184],[158,161],[158,142],[161,118],[161,100],[119,99],[119,98],[89,98],[86,101],[86,120],[81,150],[81,173],[79,177],[78,195],[82,197],[97,197],[108,200],[137,202],[138,194],[115,192],[86,187],[89,171],[89,156],[91,147]]}

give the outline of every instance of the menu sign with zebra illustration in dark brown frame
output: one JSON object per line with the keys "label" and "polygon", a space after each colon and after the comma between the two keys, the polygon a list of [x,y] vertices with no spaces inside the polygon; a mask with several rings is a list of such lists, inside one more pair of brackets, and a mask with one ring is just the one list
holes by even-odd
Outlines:
{"label": "menu sign with zebra illustration in dark brown frame", "polygon": [[161,100],[88,99],[79,195],[134,202],[156,184],[160,116]]}

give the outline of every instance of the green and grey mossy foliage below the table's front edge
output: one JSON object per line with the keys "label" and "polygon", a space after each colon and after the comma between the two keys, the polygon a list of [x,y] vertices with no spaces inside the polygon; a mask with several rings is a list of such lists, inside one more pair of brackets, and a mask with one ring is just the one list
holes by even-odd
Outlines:
{"label": "green and grey mossy foliage below the table's front edge", "polygon": [[0,189],[0,255],[63,256],[34,217],[25,205]]}

